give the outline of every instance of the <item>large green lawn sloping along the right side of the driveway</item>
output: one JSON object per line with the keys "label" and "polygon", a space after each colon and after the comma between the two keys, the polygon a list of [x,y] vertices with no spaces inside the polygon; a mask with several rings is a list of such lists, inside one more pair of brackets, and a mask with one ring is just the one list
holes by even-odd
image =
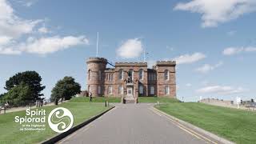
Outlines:
{"label": "large green lawn sloping along the right side of the driveway", "polygon": [[194,126],[236,143],[256,142],[256,113],[195,102],[174,102],[156,106]]}

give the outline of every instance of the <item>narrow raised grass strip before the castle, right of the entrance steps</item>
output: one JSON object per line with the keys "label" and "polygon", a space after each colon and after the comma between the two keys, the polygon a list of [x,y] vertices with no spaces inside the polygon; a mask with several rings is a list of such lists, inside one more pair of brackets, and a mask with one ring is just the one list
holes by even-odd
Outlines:
{"label": "narrow raised grass strip before the castle, right of the entrance steps", "polygon": [[138,97],[138,102],[156,103],[156,102],[180,102],[180,101],[177,98]]}

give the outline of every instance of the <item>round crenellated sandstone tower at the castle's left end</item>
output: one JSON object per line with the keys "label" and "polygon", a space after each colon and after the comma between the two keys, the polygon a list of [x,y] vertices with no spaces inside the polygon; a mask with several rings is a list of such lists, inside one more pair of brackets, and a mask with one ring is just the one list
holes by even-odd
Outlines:
{"label": "round crenellated sandstone tower at the castle's left end", "polygon": [[87,64],[87,90],[93,96],[104,94],[104,70],[106,58],[89,58]]}

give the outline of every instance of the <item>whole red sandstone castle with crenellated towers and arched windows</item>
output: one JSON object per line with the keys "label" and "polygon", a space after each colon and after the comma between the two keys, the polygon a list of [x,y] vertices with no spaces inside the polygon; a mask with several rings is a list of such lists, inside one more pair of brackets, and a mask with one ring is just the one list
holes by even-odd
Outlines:
{"label": "whole red sandstone castle with crenellated towers and arched windows", "polygon": [[158,61],[152,69],[146,62],[115,62],[114,68],[106,68],[108,63],[106,58],[89,58],[86,62],[87,90],[93,96],[176,97],[176,62]]}

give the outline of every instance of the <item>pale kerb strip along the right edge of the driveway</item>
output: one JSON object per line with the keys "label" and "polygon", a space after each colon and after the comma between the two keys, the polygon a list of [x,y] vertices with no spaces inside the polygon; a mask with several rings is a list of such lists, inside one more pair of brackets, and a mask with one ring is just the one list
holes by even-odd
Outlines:
{"label": "pale kerb strip along the right edge of the driveway", "polygon": [[218,142],[222,142],[222,143],[225,143],[225,144],[234,144],[234,142],[231,142],[231,141],[229,141],[225,138],[221,138],[216,134],[212,134],[209,131],[206,131],[206,130],[203,130],[202,128],[199,128],[198,126],[194,126],[194,125],[190,124],[189,122],[185,122],[185,121],[182,121],[181,119],[175,118],[174,116],[171,116],[170,114],[166,114],[165,112],[163,112],[161,110],[158,110],[155,107],[153,107],[153,108],[154,108],[154,110],[157,110],[161,114],[165,114],[167,117],[171,118],[175,122],[178,122],[178,123],[182,124],[183,126],[186,126],[186,127],[190,128],[192,130],[197,130],[199,133],[205,134],[206,136],[208,136],[210,138],[213,138],[213,139],[217,140]]}

